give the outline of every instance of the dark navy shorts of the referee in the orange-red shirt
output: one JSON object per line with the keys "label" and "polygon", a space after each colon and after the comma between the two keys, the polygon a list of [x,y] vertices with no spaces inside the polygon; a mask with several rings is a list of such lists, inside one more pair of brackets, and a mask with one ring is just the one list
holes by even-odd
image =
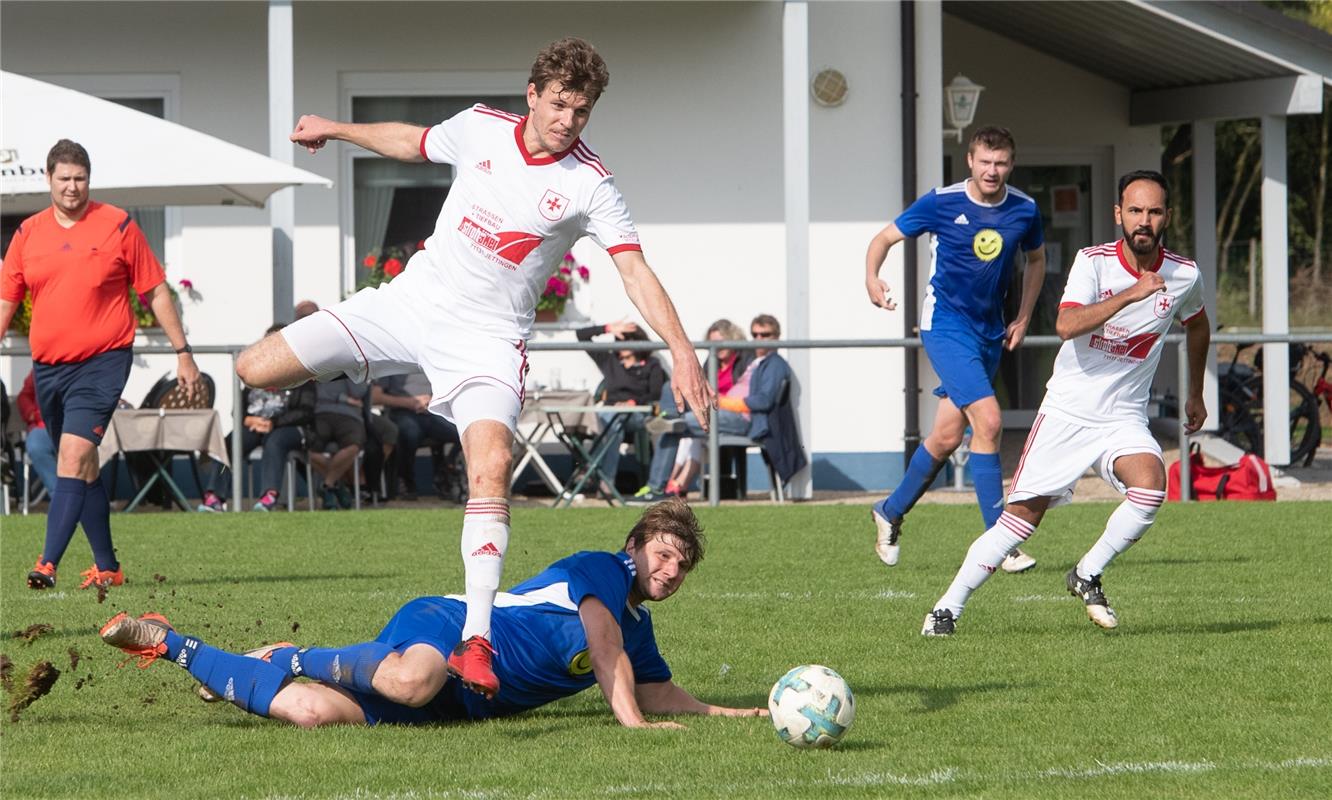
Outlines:
{"label": "dark navy shorts of the referee in the orange-red shirt", "polygon": [[37,406],[57,451],[61,434],[101,445],[111,415],[120,403],[120,393],[129,379],[131,365],[133,355],[129,347],[108,350],[73,363],[33,362]]}

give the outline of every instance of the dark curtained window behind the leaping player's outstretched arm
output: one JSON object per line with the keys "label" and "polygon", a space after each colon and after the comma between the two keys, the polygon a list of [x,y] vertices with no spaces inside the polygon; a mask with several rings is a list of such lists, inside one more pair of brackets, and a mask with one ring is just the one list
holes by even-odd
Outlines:
{"label": "dark curtained window behind the leaping player's outstretched arm", "polygon": [[[522,95],[353,96],[352,121],[433,125],[477,102],[519,114],[527,112]],[[454,169],[448,164],[405,164],[373,153],[353,153],[350,290],[369,276],[366,256],[390,248],[410,256],[434,232],[453,177]]]}

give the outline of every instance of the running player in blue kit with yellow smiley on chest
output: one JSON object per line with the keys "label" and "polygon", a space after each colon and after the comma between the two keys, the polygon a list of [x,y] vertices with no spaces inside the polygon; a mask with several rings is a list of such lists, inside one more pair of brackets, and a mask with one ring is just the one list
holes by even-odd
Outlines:
{"label": "running player in blue kit with yellow smiley on chest", "polygon": [[[934,483],[971,427],[971,477],[986,527],[1003,511],[999,465],[1002,421],[994,374],[1003,349],[1015,350],[1027,335],[1046,273],[1044,232],[1036,202],[1008,186],[1015,152],[1004,128],[980,128],[971,137],[971,177],[934,189],[880,230],[864,256],[870,302],[892,310],[879,269],[888,250],[907,237],[934,236],[930,285],[920,306],[920,339],[939,375],[939,409],[930,435],[911,455],[896,490],[875,503],[875,550],[890,567],[898,563],[902,519]],[[1003,306],[1018,250],[1027,256],[1018,318],[1004,325]],[[1002,567],[1020,572],[1036,564],[1014,548]]]}

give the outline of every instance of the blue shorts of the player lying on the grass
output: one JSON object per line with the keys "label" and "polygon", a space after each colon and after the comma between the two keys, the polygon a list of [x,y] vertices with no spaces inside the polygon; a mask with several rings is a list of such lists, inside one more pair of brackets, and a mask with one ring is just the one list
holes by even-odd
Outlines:
{"label": "blue shorts of the player lying on the grass", "polygon": [[[376,642],[388,644],[394,652],[404,652],[413,644],[429,644],[445,658],[462,640],[462,620],[466,607],[446,598],[417,598],[393,615]],[[426,725],[433,723],[474,719],[468,708],[468,692],[461,680],[446,680],[440,694],[420,708],[386,700],[373,692],[352,692],[372,725]],[[480,695],[477,695],[480,696]]]}

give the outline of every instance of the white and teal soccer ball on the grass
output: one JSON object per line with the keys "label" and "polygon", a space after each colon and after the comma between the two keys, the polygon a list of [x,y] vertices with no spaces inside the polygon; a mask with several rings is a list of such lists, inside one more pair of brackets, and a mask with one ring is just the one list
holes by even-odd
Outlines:
{"label": "white and teal soccer ball on the grass", "polygon": [[782,676],[767,695],[778,737],[791,747],[832,747],[855,721],[855,696],[840,675],[805,664]]}

